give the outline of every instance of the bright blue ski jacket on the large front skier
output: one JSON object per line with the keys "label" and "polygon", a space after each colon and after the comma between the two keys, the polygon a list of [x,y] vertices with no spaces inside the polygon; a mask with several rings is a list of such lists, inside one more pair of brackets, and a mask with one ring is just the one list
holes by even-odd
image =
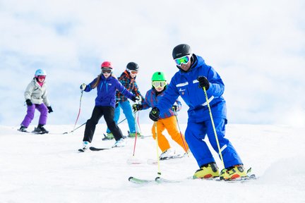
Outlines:
{"label": "bright blue ski jacket on the large front skier", "polygon": [[227,109],[225,99],[222,97],[225,85],[214,68],[206,65],[203,58],[195,54],[189,71],[179,70],[175,73],[165,90],[165,95],[156,105],[160,109],[160,114],[167,111],[181,96],[189,106],[189,121],[198,123],[210,120],[207,101],[203,89],[199,87],[198,76],[205,76],[210,82],[210,88],[206,92],[213,118],[225,118],[227,122]]}

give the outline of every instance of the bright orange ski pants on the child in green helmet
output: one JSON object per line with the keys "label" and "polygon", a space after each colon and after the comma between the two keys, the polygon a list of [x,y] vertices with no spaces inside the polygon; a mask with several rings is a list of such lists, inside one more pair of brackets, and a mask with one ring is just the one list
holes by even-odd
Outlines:
{"label": "bright orange ski pants on the child in green helmet", "polygon": [[[165,152],[165,150],[170,148],[169,141],[165,135],[162,134],[165,129],[167,130],[167,133],[172,137],[172,140],[177,142],[177,144],[179,144],[184,149],[184,151],[189,150],[189,146],[186,144],[184,135],[180,135],[177,118],[175,118],[175,116],[171,116],[169,118],[161,118],[157,121],[157,141],[162,152]],[[156,138],[155,123],[152,125],[152,137],[154,139]]]}

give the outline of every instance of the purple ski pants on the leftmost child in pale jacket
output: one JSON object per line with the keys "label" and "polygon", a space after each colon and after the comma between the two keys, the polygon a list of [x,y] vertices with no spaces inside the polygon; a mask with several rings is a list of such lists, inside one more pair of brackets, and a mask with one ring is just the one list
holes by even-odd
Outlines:
{"label": "purple ski pants on the leftmost child in pale jacket", "polygon": [[44,103],[42,104],[32,104],[32,106],[28,106],[27,115],[25,115],[25,118],[23,119],[23,122],[21,125],[28,128],[28,125],[32,122],[32,119],[34,118],[35,109],[40,111],[40,120],[38,121],[38,124],[45,125],[47,123],[47,106],[45,106]]}

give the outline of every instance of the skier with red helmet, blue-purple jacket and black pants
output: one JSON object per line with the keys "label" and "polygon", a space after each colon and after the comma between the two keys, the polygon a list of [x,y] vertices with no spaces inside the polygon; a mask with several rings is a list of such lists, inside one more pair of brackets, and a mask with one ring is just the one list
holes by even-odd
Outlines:
{"label": "skier with red helmet, blue-purple jacket and black pants", "polygon": [[114,122],[114,107],[115,107],[115,93],[116,90],[124,94],[128,99],[136,101],[139,98],[136,95],[128,92],[126,88],[121,85],[121,82],[112,75],[113,66],[109,61],[104,61],[101,65],[102,73],[97,75],[89,85],[83,83],[80,85],[80,90],[90,92],[97,87],[97,97],[95,98],[95,107],[92,111],[91,118],[85,125],[85,133],[83,137],[83,149],[80,151],[85,152],[88,149],[88,144],[92,142],[93,135],[95,133],[95,127],[100,121],[100,118],[104,116],[104,120],[107,123],[107,127],[114,135],[116,142],[113,147],[124,147],[125,141],[121,133],[121,129]]}

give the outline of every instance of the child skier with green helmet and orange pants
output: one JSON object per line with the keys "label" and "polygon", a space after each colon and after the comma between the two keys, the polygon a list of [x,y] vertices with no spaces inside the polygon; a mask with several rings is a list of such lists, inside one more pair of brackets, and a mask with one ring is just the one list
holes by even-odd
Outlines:
{"label": "child skier with green helmet and orange pants", "polygon": [[[157,102],[160,101],[165,95],[165,90],[167,89],[167,80],[165,74],[162,72],[155,72],[152,75],[152,89],[148,90],[145,95],[145,100],[142,104],[133,104],[133,111],[140,111],[143,109],[153,108],[156,106]],[[160,160],[167,159],[175,155],[174,149],[169,145],[169,141],[162,134],[162,132],[167,129],[167,132],[172,137],[172,140],[177,142],[184,151],[187,153],[189,146],[184,140],[184,136],[180,134],[177,128],[177,118],[176,112],[181,109],[181,102],[177,99],[174,101],[173,106],[170,106],[166,111],[162,111],[160,114],[160,120],[157,121],[157,141],[162,154],[160,154]],[[155,135],[155,125],[152,125],[152,137],[156,139]]]}

